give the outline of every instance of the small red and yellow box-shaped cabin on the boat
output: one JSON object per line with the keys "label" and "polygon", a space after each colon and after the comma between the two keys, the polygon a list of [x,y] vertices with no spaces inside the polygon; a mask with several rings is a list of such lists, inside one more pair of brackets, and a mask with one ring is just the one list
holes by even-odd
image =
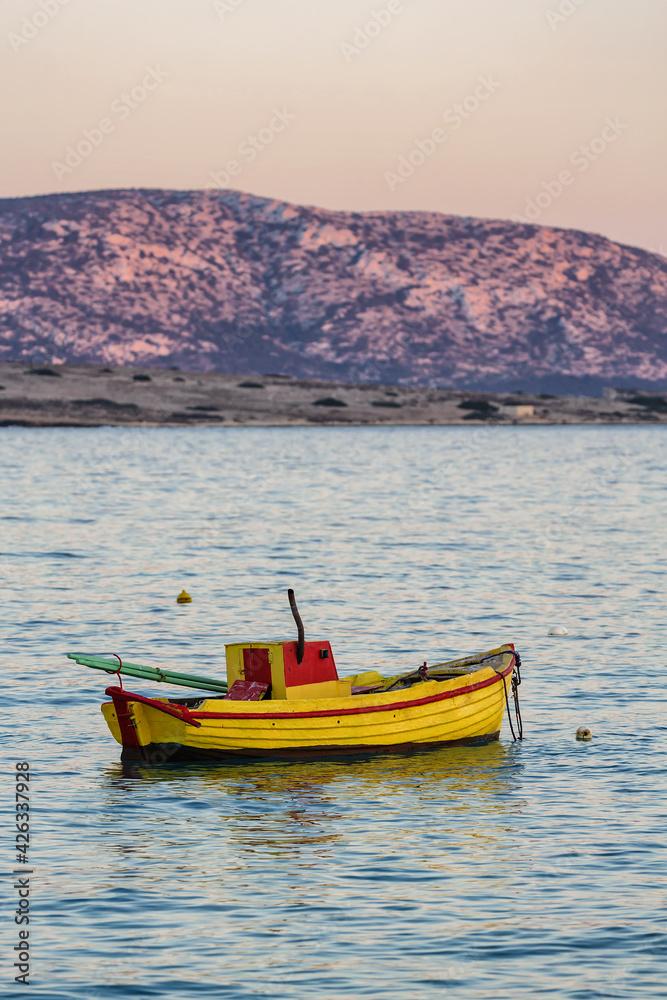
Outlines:
{"label": "small red and yellow box-shaped cabin on the boat", "polygon": [[351,693],[350,679],[338,678],[328,642],[304,642],[300,662],[296,642],[234,642],[225,653],[231,701],[347,698]]}

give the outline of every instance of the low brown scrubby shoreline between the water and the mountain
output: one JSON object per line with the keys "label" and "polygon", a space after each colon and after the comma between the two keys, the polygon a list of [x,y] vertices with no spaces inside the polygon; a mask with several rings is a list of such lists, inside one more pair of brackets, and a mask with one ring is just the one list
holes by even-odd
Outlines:
{"label": "low brown scrubby shoreline between the water and the mountain", "polygon": [[479,427],[667,424],[667,393],[602,399],[174,368],[0,362],[2,427]]}

